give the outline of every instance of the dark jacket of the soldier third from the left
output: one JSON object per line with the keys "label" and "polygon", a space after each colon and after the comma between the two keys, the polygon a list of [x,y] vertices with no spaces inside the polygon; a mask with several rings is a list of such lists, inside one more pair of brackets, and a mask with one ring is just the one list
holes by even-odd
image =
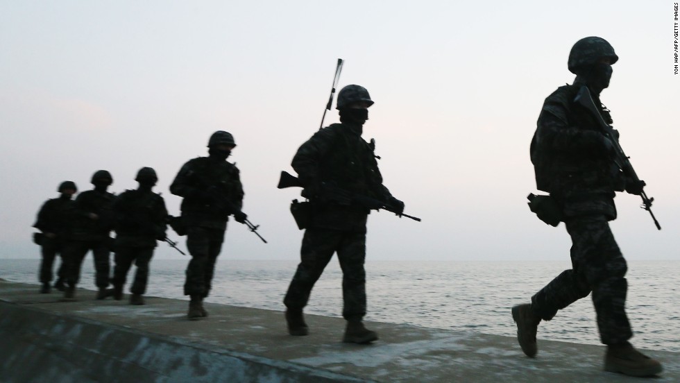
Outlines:
{"label": "dark jacket of the soldier third from the left", "polygon": [[126,190],[113,203],[115,246],[155,247],[165,238],[168,211],[153,191]]}

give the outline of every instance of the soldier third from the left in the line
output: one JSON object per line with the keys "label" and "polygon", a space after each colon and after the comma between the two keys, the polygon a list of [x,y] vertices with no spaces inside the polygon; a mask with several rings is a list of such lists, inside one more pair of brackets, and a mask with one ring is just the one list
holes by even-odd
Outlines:
{"label": "soldier third from the left in the line", "polygon": [[114,241],[116,266],[113,271],[115,300],[123,298],[123,286],[130,266],[135,262],[135,282],[130,287],[130,305],[144,305],[142,295],[146,292],[148,263],[153,257],[156,240],[165,239],[168,211],[160,194],[151,189],[158,181],[155,170],[143,167],[135,178],[136,190],[126,190],[113,203],[116,240]]}

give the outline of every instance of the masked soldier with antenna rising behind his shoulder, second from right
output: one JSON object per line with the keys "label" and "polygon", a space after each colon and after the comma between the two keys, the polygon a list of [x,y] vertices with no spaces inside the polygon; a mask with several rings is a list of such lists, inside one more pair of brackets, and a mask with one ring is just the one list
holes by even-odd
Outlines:
{"label": "masked soldier with antenna rising behind his shoulder, second from right", "polygon": [[312,204],[310,223],[300,249],[300,264],[284,298],[291,335],[307,335],[303,308],[314,283],[337,252],[343,270],[343,318],[347,321],[343,341],[377,340],[377,334],[362,323],[366,314],[364,259],[369,210],[355,203],[339,203],[325,193],[325,187],[333,185],[349,193],[384,201],[403,212],[404,203],[382,185],[373,146],[362,138],[371,105],[373,101],[364,87],[343,87],[337,101],[341,124],[318,130],[300,146],[291,163],[304,187],[303,196]]}

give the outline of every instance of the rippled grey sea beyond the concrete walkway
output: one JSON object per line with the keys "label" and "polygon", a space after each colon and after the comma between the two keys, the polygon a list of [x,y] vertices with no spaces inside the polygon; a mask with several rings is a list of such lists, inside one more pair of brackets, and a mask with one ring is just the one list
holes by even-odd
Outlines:
{"label": "rippled grey sea beyond the concrete walkway", "polygon": [[[95,289],[88,255],[80,287]],[[0,259],[0,278],[35,283],[40,259]],[[297,262],[219,258],[206,302],[283,311],[282,300]],[[638,348],[680,352],[680,261],[630,261],[626,310]],[[147,296],[182,295],[186,259],[153,259]],[[366,263],[366,321],[514,337],[510,309],[564,269],[567,262]],[[134,267],[133,267],[134,270]],[[129,287],[133,270],[128,275]],[[305,312],[342,314],[342,271],[331,261],[316,283]],[[58,291],[55,291],[58,293]],[[283,316],[282,316],[283,321]],[[590,296],[538,327],[538,339],[600,344]]]}

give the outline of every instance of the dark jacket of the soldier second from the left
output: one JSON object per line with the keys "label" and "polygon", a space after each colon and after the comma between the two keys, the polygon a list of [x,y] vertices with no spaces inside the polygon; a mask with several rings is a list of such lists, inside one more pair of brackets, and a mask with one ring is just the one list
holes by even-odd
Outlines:
{"label": "dark jacket of the soldier second from the left", "polygon": [[[114,218],[111,207],[116,197],[105,191],[87,190],[78,194],[71,210],[71,239],[76,241],[101,240],[109,238]],[[90,214],[97,219],[91,219]]]}

